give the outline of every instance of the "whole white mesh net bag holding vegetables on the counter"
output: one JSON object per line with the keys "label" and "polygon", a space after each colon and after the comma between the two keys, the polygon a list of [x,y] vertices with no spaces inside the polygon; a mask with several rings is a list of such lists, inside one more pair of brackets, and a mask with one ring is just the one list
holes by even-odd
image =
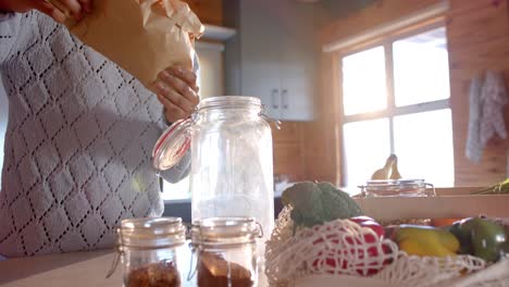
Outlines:
{"label": "whole white mesh net bag holding vegetables on the counter", "polygon": [[[392,286],[509,286],[504,285],[509,269],[498,266],[498,273],[486,277],[484,271],[477,272],[486,269],[486,262],[475,257],[408,255],[392,240],[372,240],[373,230],[346,220],[294,235],[290,211],[283,209],[266,242],[265,273],[272,286],[291,286],[299,278],[320,274],[370,276]],[[460,279],[474,272],[481,279],[461,285]]]}

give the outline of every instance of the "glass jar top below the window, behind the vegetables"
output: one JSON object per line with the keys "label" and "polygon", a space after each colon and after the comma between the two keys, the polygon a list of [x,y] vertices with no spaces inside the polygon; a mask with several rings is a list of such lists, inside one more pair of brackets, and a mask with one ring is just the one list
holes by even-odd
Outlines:
{"label": "glass jar top below the window, behind the vegetables", "polygon": [[363,197],[430,197],[435,188],[424,179],[369,180],[360,186]]}

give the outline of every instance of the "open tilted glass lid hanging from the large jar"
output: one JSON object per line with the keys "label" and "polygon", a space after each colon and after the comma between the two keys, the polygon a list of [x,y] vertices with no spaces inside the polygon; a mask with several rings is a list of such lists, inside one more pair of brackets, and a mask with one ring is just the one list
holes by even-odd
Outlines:
{"label": "open tilted glass lid hanging from the large jar", "polygon": [[181,162],[190,147],[191,123],[190,118],[179,120],[161,135],[152,150],[156,169],[165,171]]}

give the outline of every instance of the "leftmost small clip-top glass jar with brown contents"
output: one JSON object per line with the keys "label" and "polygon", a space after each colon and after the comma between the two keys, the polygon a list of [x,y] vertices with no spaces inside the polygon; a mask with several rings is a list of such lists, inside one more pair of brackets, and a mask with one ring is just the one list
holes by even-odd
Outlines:
{"label": "leftmost small clip-top glass jar with brown contents", "polygon": [[125,287],[177,287],[186,275],[186,228],[178,217],[133,219],[117,229]]}

